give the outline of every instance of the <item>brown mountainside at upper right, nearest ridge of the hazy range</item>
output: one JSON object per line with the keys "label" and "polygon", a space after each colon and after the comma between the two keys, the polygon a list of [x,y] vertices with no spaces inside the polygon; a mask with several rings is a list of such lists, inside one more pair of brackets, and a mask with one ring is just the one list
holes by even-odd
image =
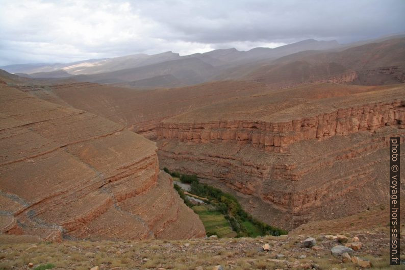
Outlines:
{"label": "brown mountainside at upper right, nearest ridge of the hazy range", "polygon": [[404,56],[405,38],[389,39],[341,52],[291,54],[256,67],[249,65],[226,70],[217,79],[236,78],[239,75],[239,79],[264,82],[273,87],[313,82],[394,84],[405,81]]}

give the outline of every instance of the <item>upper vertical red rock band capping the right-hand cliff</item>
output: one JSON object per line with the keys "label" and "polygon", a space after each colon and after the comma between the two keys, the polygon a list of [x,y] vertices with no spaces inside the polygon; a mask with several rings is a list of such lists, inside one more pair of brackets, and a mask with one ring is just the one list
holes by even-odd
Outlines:
{"label": "upper vertical red rock band capping the right-hand cliff", "polygon": [[[392,100],[372,102],[375,94],[369,97],[370,103],[360,105],[357,105],[358,97],[345,100],[345,104],[336,104],[336,99],[324,101],[324,108],[328,105],[337,107],[327,109],[331,112],[326,113],[311,112],[311,109],[320,111],[319,102],[316,101],[262,117],[288,121],[219,120],[178,123],[166,120],[159,125],[157,134],[159,139],[175,138],[182,142],[202,143],[211,140],[234,141],[267,151],[284,152],[288,150],[288,145],[301,140],[322,140],[335,135],[374,131],[391,125],[405,128],[405,100],[396,100],[393,96]],[[338,108],[339,105],[346,108]],[[294,115],[297,110],[307,110],[307,115]]]}

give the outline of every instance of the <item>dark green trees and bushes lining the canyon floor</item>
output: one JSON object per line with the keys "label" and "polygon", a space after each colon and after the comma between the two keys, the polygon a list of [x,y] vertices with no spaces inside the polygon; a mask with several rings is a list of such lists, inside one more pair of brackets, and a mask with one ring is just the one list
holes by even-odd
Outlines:
{"label": "dark green trees and bushes lining the canyon floor", "polygon": [[[180,197],[184,200],[185,204],[191,207],[194,212],[196,212],[200,216],[200,219],[202,220],[207,233],[211,232],[210,230],[214,228],[210,227],[212,226],[212,220],[209,220],[208,217],[201,217],[203,215],[201,213],[204,213],[204,215],[223,215],[228,224],[231,226],[232,230],[237,233],[237,237],[256,237],[259,235],[279,236],[288,233],[283,229],[270,226],[252,217],[250,214],[246,213],[243,210],[242,206],[233,195],[225,193],[222,190],[210,185],[199,183],[196,175],[184,175],[180,174],[177,171],[170,172],[167,168],[164,168],[164,170],[172,177],[180,178],[180,181],[182,183],[190,184],[191,190],[189,191],[189,193],[195,194],[199,197],[207,198],[207,203],[214,207],[213,209],[206,208],[205,210],[201,210],[201,206],[192,206],[192,204],[187,200],[187,197],[185,196],[183,190],[178,185],[174,184],[174,188],[179,192]],[[202,218],[207,218],[206,222],[204,222]],[[210,230],[207,228],[209,228]]]}

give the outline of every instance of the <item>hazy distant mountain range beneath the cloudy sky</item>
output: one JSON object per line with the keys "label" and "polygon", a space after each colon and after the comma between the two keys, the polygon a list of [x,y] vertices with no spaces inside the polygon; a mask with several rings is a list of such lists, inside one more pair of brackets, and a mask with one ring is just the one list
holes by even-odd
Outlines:
{"label": "hazy distant mountain range beneath the cloudy sky", "polygon": [[[20,64],[0,68],[26,78],[71,78],[133,88],[178,87],[216,80],[254,80],[281,86],[283,81],[294,84],[331,77],[343,82],[351,78],[352,72],[364,73],[367,69],[402,65],[403,37],[405,35],[352,44],[307,39],[276,48],[258,47],[249,51],[230,48],[187,56],[172,52],[135,54],[73,63]],[[381,48],[375,44],[381,42],[386,42],[392,51],[385,50],[384,54],[379,54]],[[378,61],[368,61],[371,56]],[[351,78],[353,80],[363,80],[363,84],[367,77],[359,74],[351,76],[356,77]],[[386,75],[380,77],[372,83],[395,81],[386,78]]]}

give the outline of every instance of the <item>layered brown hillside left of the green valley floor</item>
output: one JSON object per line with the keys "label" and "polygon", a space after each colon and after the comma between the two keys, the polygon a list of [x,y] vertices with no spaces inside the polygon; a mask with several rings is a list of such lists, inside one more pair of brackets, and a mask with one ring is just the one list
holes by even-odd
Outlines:
{"label": "layered brown hillside left of the green valley floor", "polygon": [[157,148],[120,124],[0,86],[0,232],[191,238],[198,216],[160,173]]}

